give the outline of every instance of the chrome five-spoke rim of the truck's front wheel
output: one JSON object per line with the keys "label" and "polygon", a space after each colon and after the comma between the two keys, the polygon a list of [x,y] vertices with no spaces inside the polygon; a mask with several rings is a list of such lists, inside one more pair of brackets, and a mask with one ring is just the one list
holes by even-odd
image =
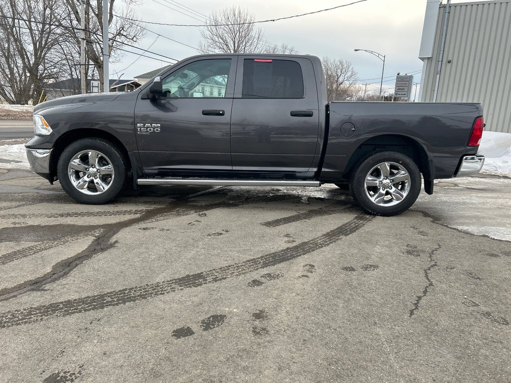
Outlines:
{"label": "chrome five-spoke rim of the truck's front wheel", "polygon": [[73,186],[83,194],[97,196],[112,185],[114,172],[110,159],[97,150],[77,153],[67,166]]}

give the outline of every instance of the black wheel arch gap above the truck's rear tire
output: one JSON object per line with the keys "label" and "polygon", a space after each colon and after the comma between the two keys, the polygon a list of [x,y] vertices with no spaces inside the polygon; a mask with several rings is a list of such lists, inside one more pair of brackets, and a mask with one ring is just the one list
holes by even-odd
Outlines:
{"label": "black wheel arch gap above the truck's rear tire", "polygon": [[433,193],[434,167],[426,149],[415,139],[400,134],[383,134],[368,138],[353,152],[346,164],[343,178],[350,179],[357,165],[376,152],[393,150],[410,157],[424,177],[426,193]]}

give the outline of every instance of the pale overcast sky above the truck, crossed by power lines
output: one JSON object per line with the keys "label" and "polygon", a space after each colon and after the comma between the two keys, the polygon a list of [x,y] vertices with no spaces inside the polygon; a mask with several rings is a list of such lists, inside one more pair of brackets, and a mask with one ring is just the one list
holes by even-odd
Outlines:
{"label": "pale overcast sky above the truck, crossed by power lines", "polygon": [[[352,3],[354,0],[142,1],[142,5],[134,10],[135,18],[163,23],[201,24],[204,20],[203,16],[186,12],[179,8],[179,5],[204,15],[210,15],[215,10],[231,5],[240,5],[253,13],[255,20],[265,20],[332,8]],[[460,2],[452,1],[452,3]],[[393,83],[398,72],[401,74],[415,72],[414,81],[420,82],[421,73],[417,71],[422,70],[422,61],[417,58],[417,55],[421,43],[425,9],[426,0],[367,0],[332,11],[266,22],[257,26],[263,29],[265,40],[270,43],[293,45],[300,54],[328,56],[350,61],[358,73],[360,83],[374,83],[368,89],[371,86],[379,89],[382,61],[366,52],[354,52],[354,49],[366,49],[385,55],[384,77],[386,78],[384,78],[383,87],[393,91]],[[161,36],[192,46],[159,37],[149,51],[178,60],[198,54],[193,47],[197,47],[201,40],[201,28],[150,24],[144,24],[144,26]],[[136,45],[142,49],[148,49],[156,36],[155,33],[147,32]],[[127,49],[137,53],[142,52],[133,48]],[[156,57],[149,53],[147,55]],[[145,57],[140,57],[133,63],[137,57],[138,55],[126,54],[120,62],[110,63],[110,78],[117,78],[124,73],[122,79],[133,79],[137,75],[168,65],[164,61]],[[125,69],[128,66],[129,68]]]}

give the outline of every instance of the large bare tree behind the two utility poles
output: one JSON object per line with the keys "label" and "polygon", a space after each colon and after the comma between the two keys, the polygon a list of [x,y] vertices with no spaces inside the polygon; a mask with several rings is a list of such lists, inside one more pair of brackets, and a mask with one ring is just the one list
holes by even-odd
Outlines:
{"label": "large bare tree behind the two utility poles", "polygon": [[[76,0],[62,0],[68,10],[61,17],[61,28],[69,33],[73,42],[80,45],[81,14],[79,3]],[[96,0],[96,4],[85,2],[85,56],[95,66],[99,80],[103,83],[103,1]],[[134,18],[133,6],[137,0],[124,0],[125,7],[115,8],[115,0],[109,1],[108,54],[110,62],[117,62],[124,52],[124,43],[134,43],[144,36],[141,24],[130,19]],[[106,81],[108,84],[108,81]],[[108,89],[104,89],[108,91]]]}

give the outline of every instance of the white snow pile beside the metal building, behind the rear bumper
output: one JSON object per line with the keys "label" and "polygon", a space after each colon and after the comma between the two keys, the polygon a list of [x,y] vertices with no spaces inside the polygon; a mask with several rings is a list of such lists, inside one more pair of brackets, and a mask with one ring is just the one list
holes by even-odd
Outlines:
{"label": "white snow pile beside the metal building, behind the rear bumper", "polygon": [[486,157],[481,173],[511,177],[511,134],[483,132],[479,154]]}

